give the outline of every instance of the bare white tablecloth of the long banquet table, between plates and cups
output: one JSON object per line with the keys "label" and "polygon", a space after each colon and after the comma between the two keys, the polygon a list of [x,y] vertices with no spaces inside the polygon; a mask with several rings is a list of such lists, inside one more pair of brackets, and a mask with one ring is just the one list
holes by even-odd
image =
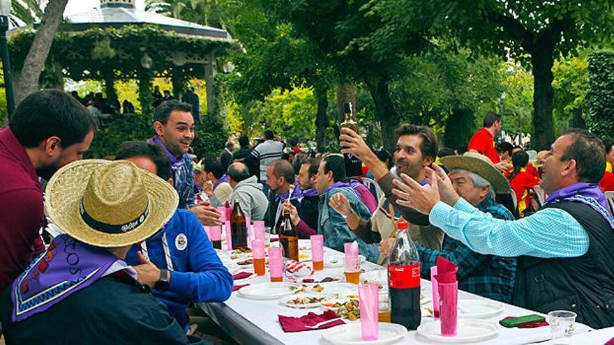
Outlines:
{"label": "bare white tablecloth of the long banquet table, between plates and cups", "polygon": [[[305,243],[304,240],[300,241]],[[308,241],[307,241],[308,243]],[[330,248],[324,248],[324,257],[327,255],[341,254]],[[251,266],[250,266],[251,267]],[[374,263],[365,262],[361,265],[366,271],[384,269]],[[326,275],[343,275],[343,268],[324,268],[322,273]],[[267,275],[250,279],[250,284],[269,282],[268,268]],[[430,281],[422,279],[421,286],[425,294],[430,296]],[[486,298],[458,291],[458,300],[486,300]],[[505,316],[523,316],[527,314],[539,314],[514,305],[504,305],[504,312],[492,319],[481,319],[497,322]],[[225,302],[200,303],[199,307],[204,310],[211,319],[216,321],[223,329],[235,339],[239,344],[328,344],[322,339],[322,332],[325,330],[310,330],[306,332],[286,333],[282,330],[278,322],[278,314],[286,316],[302,316],[308,312],[322,312],[320,308],[314,309],[292,309],[280,305],[278,300],[251,300],[243,298],[238,291]],[[422,323],[431,322],[432,318],[423,317]],[[359,322],[359,321],[357,321]],[[329,328],[331,329],[331,328]],[[591,330],[587,325],[576,323],[576,335]],[[539,342],[545,343],[550,339],[550,329],[548,327],[539,328],[500,328],[496,337],[491,337],[482,342],[471,344],[531,344]],[[410,331],[404,339],[396,344],[443,344],[419,335],[417,331]]]}

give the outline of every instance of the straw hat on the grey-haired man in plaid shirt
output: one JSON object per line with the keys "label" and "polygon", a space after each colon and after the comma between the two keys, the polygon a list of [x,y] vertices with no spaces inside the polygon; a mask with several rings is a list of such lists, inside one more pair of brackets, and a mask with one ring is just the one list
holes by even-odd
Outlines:
{"label": "straw hat on the grey-haired man in plaid shirt", "polygon": [[497,194],[511,191],[507,178],[503,176],[490,158],[474,152],[465,152],[463,155],[448,155],[441,158],[442,164],[448,170],[463,169],[471,171],[490,182]]}

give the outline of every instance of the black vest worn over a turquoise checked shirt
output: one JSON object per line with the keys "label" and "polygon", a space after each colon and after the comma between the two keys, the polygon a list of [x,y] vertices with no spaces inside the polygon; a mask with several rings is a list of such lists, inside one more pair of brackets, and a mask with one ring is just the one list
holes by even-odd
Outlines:
{"label": "black vest worn over a turquoise checked shirt", "polygon": [[596,210],[573,201],[552,208],[569,213],[588,233],[586,254],[575,258],[518,258],[514,304],[547,314],[571,310],[592,328],[614,325],[614,230]]}

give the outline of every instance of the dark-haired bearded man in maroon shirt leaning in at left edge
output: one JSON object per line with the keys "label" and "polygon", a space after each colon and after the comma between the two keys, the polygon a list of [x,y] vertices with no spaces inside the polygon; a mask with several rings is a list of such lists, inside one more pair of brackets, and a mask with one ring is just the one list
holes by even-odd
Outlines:
{"label": "dark-haired bearded man in maroon shirt leaning in at left edge", "polygon": [[80,160],[96,131],[89,111],[68,93],[32,93],[0,132],[0,291],[20,275],[45,245],[43,189],[65,164]]}

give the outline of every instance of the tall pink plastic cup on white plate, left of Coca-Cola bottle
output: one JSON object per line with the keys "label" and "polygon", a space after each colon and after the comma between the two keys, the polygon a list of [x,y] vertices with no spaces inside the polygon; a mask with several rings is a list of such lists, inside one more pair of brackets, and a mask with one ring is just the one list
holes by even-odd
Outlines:
{"label": "tall pink plastic cup on white plate, left of Coca-Cola bottle", "polygon": [[359,284],[358,286],[360,328],[362,339],[365,341],[379,338],[379,290],[377,284]]}

